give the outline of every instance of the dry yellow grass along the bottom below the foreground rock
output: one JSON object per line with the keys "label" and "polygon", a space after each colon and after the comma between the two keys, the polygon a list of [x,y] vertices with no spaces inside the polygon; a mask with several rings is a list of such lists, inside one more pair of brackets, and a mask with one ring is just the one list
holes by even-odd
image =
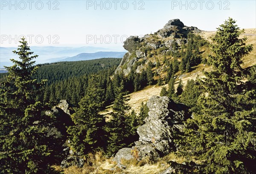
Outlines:
{"label": "dry yellow grass along the bottom below the foreground rock", "polygon": [[169,168],[168,161],[183,163],[186,159],[171,153],[155,162],[149,160],[148,157],[143,158],[141,161],[136,159],[121,160],[121,163],[126,166],[125,169],[118,168],[112,158],[105,158],[101,152],[94,155],[90,154],[86,161],[82,168],[76,166],[65,169],[60,166],[54,166],[54,168],[56,171],[63,171],[64,174],[159,174]]}

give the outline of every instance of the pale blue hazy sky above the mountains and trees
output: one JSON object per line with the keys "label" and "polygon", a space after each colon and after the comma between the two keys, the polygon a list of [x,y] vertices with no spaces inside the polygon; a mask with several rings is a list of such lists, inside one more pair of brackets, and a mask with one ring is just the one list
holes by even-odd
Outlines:
{"label": "pale blue hazy sky above the mountains and trees", "polygon": [[0,46],[96,46],[123,51],[131,35],[156,32],[172,19],[215,31],[228,17],[256,28],[255,0],[0,0]]}

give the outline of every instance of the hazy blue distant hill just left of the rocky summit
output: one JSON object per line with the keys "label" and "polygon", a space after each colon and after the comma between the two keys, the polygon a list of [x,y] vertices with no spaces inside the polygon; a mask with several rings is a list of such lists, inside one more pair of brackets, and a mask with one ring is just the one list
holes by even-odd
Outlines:
{"label": "hazy blue distant hill just left of the rocky summit", "polygon": [[80,60],[93,60],[99,58],[122,58],[126,52],[114,52],[114,51],[99,51],[96,53],[81,53],[74,57],[68,57],[61,61],[80,61]]}

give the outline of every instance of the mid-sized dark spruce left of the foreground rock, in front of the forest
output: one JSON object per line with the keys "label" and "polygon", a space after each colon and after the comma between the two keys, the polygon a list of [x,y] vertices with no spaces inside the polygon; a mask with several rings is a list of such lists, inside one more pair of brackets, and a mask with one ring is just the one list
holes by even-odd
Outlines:
{"label": "mid-sized dark spruce left of the foreground rock, in front of the forest", "polygon": [[86,95],[79,102],[79,108],[72,115],[74,126],[67,130],[70,142],[77,152],[87,154],[105,148],[105,119],[99,114],[104,101],[104,90],[99,88],[98,76],[89,81]]}

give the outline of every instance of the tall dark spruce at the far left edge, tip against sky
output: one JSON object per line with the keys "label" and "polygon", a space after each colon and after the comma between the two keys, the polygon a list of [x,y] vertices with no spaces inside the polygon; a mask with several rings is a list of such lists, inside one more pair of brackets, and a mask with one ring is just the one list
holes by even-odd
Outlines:
{"label": "tall dark spruce at the far left edge, tip against sky", "polygon": [[46,115],[49,107],[37,97],[46,82],[34,78],[38,66],[32,59],[38,55],[32,56],[24,38],[20,43],[13,51],[20,61],[11,59],[14,65],[6,67],[8,76],[0,82],[0,173],[52,174],[64,142],[61,136],[49,134],[58,132],[55,116]]}

